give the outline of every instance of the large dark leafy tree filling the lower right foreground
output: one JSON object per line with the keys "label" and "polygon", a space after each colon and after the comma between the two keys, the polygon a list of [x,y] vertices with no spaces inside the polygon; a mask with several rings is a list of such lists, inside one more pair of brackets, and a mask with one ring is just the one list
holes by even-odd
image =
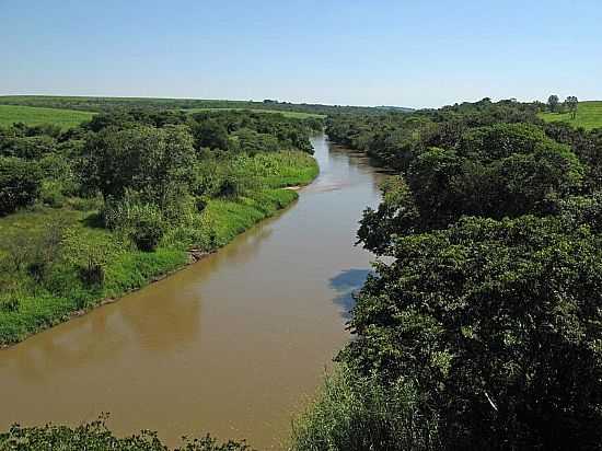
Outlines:
{"label": "large dark leafy tree filling the lower right foreground", "polygon": [[447,449],[599,449],[602,239],[556,218],[394,240],[340,359],[407,381]]}

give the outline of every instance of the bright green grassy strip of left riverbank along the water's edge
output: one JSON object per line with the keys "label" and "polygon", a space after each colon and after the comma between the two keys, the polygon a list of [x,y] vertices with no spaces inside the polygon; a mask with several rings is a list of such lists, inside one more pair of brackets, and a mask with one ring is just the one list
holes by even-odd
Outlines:
{"label": "bright green grassy strip of left riverbank along the water's edge", "polygon": [[[102,286],[88,287],[67,263],[55,265],[44,284],[23,284],[0,305],[0,347],[66,322],[126,293],[173,274],[204,255],[216,252],[258,221],[273,216],[298,198],[289,186],[309,184],[319,173],[315,160],[302,152],[257,155],[239,178],[254,183],[239,195],[210,198],[188,229],[167,233],[153,252],[126,246],[121,236],[97,226],[97,210],[79,205],[36,207],[0,219],[4,254],[47,252],[39,235],[53,228],[74,231],[79,245],[106,262]],[[244,173],[244,174],[243,174]],[[27,231],[24,234],[23,231]],[[183,238],[185,235],[185,238]],[[32,248],[32,244],[34,248]],[[46,248],[45,248],[46,247]],[[82,250],[83,252],[83,250]],[[15,265],[18,259],[12,258]]]}

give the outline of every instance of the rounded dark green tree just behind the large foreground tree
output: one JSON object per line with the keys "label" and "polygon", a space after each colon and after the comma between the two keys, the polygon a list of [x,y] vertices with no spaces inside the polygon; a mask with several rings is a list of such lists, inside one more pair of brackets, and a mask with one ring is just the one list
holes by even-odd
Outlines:
{"label": "rounded dark green tree just behind the large foreground tree", "polygon": [[443,229],[464,215],[543,215],[556,198],[578,190],[583,174],[570,148],[536,126],[471,128],[454,149],[429,148],[415,157],[407,185],[386,184],[378,210],[364,211],[358,238],[383,254],[395,234]]}

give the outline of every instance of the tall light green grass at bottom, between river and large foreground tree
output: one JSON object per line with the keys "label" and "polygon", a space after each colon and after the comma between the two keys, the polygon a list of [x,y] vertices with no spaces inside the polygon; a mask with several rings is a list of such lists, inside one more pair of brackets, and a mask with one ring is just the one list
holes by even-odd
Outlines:
{"label": "tall light green grass at bottom, between river and large foreground tree", "polygon": [[410,383],[384,386],[339,365],[293,420],[290,451],[438,449],[437,427],[424,418]]}

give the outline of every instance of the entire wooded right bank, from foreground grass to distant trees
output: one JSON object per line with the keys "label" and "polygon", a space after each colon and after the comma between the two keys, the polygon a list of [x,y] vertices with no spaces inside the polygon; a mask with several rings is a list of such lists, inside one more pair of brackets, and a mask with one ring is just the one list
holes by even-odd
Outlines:
{"label": "entire wooded right bank, from foreground grass to distant trees", "polygon": [[367,209],[379,256],[296,450],[602,449],[602,129],[488,99],[338,115],[398,173]]}

